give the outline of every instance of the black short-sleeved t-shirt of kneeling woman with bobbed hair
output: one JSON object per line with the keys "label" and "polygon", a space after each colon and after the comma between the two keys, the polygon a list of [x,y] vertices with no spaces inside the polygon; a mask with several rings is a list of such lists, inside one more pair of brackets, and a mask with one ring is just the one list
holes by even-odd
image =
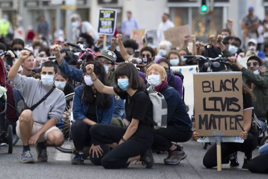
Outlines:
{"label": "black short-sleeved t-shirt of kneeling woman with bobbed hair", "polygon": [[121,98],[125,99],[125,114],[129,122],[132,119],[139,120],[139,125],[152,125],[150,120],[153,117],[152,103],[149,96],[143,90],[137,90],[133,96],[127,92],[114,91]]}

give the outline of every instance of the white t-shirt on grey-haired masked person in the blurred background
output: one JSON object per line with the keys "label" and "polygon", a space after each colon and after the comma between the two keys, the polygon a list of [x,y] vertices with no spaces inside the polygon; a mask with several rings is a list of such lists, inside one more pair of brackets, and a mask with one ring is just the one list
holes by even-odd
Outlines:
{"label": "white t-shirt on grey-haired masked person in the blurred background", "polygon": [[98,33],[96,32],[96,30],[93,29],[92,25],[87,21],[82,22],[82,26],[81,26],[80,29],[79,28],[74,28],[73,29],[72,40],[77,41],[78,38],[79,38],[80,33],[88,33],[88,31],[93,32],[93,37],[92,38],[94,38],[95,41],[98,40],[98,38],[99,38]]}

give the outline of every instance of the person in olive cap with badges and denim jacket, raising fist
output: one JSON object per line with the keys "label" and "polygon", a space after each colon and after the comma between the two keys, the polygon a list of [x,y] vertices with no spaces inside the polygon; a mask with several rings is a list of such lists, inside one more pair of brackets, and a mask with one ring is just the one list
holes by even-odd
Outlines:
{"label": "person in olive cap with badges and denim jacket, raising fist", "polygon": [[[63,72],[69,79],[76,82],[82,83],[83,81],[83,70],[71,67],[65,61],[65,59],[60,54],[60,49],[58,45],[53,45],[51,47],[52,53],[55,55],[57,63],[59,64],[58,68]],[[113,83],[113,73],[114,73],[114,63],[116,62],[116,55],[110,50],[102,50],[97,56],[98,61],[102,63],[106,72],[106,79],[110,82],[111,86],[114,86]],[[124,100],[115,96],[115,103],[113,108],[113,116],[111,119],[112,125],[124,127],[123,119],[124,118]]]}

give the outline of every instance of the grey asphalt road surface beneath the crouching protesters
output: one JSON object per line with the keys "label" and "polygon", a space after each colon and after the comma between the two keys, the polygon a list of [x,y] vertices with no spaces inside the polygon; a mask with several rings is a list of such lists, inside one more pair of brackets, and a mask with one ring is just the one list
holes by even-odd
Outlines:
{"label": "grey asphalt road surface beneath the crouching protesters", "polygon": [[[38,178],[38,179],[134,179],[134,178],[153,178],[153,179],[180,179],[180,178],[268,178],[267,174],[253,174],[249,171],[242,171],[244,154],[238,152],[239,168],[230,169],[229,164],[222,165],[222,171],[218,172],[216,168],[206,169],[202,164],[203,156],[207,150],[202,149],[202,144],[196,141],[183,143],[187,154],[186,159],[182,160],[177,166],[167,166],[163,163],[166,155],[154,154],[155,164],[153,169],[146,169],[141,164],[130,164],[127,169],[104,169],[102,166],[93,165],[90,160],[85,160],[84,165],[71,165],[72,154],[65,154],[57,151],[53,147],[48,147],[49,160],[34,164],[20,163],[19,158],[22,152],[22,143],[19,141],[13,146],[13,154],[7,153],[7,146],[1,146],[0,149],[0,178]],[[210,146],[208,146],[209,148]],[[35,160],[37,159],[34,146],[31,146],[31,152]],[[258,155],[258,150],[253,151],[253,157]]]}

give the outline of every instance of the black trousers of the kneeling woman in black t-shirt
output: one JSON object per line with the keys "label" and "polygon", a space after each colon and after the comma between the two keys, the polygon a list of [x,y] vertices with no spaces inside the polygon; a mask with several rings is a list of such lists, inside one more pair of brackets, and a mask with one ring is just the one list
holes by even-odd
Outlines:
{"label": "black trousers of the kneeling woman in black t-shirt", "polygon": [[[96,124],[90,129],[90,135],[94,145],[119,143],[125,132],[126,129],[109,124]],[[101,165],[106,169],[125,168],[129,164],[127,161],[130,157],[143,154],[150,148],[152,142],[144,142],[142,138],[136,138],[134,133],[126,142],[110,150],[102,158]]]}

